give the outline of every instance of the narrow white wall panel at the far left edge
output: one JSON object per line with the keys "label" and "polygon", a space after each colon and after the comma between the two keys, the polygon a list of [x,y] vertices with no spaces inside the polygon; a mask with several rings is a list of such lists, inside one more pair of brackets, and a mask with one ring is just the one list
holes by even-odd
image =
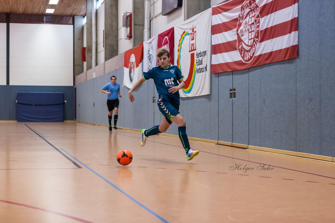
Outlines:
{"label": "narrow white wall panel at the far left edge", "polygon": [[6,85],[6,23],[0,23],[0,85]]}

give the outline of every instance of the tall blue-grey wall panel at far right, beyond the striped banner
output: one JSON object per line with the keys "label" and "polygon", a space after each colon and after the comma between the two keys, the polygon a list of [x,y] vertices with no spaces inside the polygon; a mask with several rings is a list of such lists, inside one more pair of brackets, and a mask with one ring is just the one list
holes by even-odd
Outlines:
{"label": "tall blue-grey wall panel at far right, beyond the striped banner", "polygon": [[335,2],[314,3],[299,4],[297,151],[334,157]]}

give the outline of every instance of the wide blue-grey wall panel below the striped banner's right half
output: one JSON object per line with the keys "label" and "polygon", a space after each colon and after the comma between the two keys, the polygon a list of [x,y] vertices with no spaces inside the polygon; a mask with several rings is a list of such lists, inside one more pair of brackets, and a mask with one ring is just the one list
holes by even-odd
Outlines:
{"label": "wide blue-grey wall panel below the striped banner's right half", "polygon": [[261,68],[261,146],[295,151],[295,59]]}

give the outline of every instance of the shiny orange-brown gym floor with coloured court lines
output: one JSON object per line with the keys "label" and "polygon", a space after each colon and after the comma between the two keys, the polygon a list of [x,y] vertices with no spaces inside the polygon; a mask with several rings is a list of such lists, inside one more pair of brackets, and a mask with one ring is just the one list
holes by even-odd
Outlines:
{"label": "shiny orange-brown gym floor with coloured court lines", "polygon": [[187,161],[179,138],[139,137],[0,122],[0,221],[335,222],[335,163],[197,141]]}

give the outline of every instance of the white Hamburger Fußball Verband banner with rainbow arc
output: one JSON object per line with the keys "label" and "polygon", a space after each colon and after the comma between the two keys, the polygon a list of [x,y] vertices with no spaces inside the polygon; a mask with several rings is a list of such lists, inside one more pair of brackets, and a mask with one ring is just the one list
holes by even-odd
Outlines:
{"label": "white Hamburger Fu\u00dfball Verband banner with rainbow arc", "polygon": [[180,97],[210,94],[211,16],[209,8],[175,26],[175,65],[184,76]]}

